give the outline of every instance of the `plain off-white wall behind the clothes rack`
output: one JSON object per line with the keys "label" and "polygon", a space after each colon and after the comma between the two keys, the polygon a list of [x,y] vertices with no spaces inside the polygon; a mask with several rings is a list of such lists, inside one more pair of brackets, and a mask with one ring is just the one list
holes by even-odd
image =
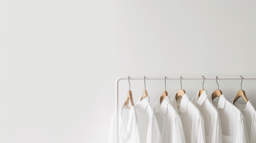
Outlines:
{"label": "plain off-white wall behind the clothes rack", "polygon": [[[115,80],[256,76],[255,0],[1,0],[0,143],[106,143]],[[240,80],[219,80],[227,99]],[[202,80],[182,81],[193,97]],[[256,80],[243,89],[256,106]],[[128,90],[120,82],[120,104]],[[153,104],[164,81],[147,80]],[[206,80],[211,94],[217,84]],[[179,80],[168,80],[173,96]],[[131,81],[135,102],[144,81]],[[243,99],[239,99],[244,102]]]}

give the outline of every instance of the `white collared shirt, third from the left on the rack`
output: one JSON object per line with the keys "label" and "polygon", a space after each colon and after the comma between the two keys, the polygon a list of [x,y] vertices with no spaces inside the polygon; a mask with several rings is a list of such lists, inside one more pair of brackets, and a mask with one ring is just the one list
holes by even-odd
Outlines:
{"label": "white collared shirt, third from the left on the rack", "polygon": [[162,143],[186,143],[182,121],[170,101],[170,96],[166,96],[162,104],[160,104],[159,99],[153,105],[162,135]]}

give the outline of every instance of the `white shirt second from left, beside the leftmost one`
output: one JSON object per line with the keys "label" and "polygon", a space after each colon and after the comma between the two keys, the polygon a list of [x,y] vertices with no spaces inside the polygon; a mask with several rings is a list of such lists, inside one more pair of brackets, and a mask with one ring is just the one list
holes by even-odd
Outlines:
{"label": "white shirt second from left, beside the leftmost one", "polygon": [[[161,133],[149,97],[145,97],[135,105],[140,130],[141,143],[162,143]],[[135,143],[135,142],[130,142]]]}

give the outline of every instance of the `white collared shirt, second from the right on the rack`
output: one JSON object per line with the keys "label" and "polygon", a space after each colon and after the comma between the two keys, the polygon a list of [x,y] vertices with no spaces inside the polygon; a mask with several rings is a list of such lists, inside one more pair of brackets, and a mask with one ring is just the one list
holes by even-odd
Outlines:
{"label": "white collared shirt, second from the right on the rack", "polygon": [[227,101],[224,95],[221,95],[220,98],[215,98],[213,105],[220,115],[222,143],[249,143],[245,118],[242,112]]}

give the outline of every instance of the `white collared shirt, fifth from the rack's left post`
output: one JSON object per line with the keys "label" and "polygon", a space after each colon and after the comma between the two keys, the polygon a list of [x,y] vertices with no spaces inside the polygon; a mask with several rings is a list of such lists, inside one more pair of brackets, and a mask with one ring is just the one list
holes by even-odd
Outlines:
{"label": "white collared shirt, fifth from the rack's left post", "polygon": [[200,110],[204,118],[205,141],[206,143],[222,143],[221,122],[218,110],[208,99],[207,91],[204,90],[200,97],[199,91],[191,101]]}

